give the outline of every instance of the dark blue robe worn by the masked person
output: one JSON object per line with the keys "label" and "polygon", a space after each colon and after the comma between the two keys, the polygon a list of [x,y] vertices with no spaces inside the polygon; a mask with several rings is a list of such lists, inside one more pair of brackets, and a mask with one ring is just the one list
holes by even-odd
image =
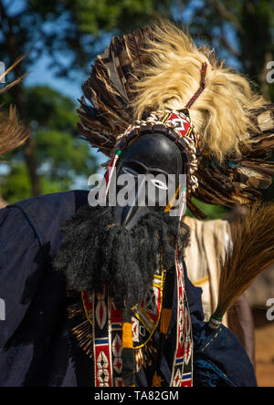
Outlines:
{"label": "dark blue robe worn by the masked person", "polygon": [[[93,386],[92,360],[70,333],[65,281],[52,266],[64,237],[60,224],[87,203],[87,196],[87,192],[59,192],[0,210],[0,298],[5,301],[5,320],[0,321],[0,387]],[[201,289],[190,283],[186,273],[185,284],[195,340],[195,385],[256,386],[245,349],[225,327],[208,336]],[[167,381],[175,327],[174,294],[161,364]],[[153,365],[140,371],[137,386],[150,386],[153,372]]]}

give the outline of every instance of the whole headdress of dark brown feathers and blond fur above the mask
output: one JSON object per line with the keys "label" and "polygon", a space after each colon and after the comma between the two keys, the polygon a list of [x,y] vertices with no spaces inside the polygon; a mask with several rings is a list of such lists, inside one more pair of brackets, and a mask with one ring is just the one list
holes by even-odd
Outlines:
{"label": "whole headdress of dark brown feathers and blond fur above the mask", "polygon": [[271,183],[274,105],[255,95],[246,78],[162,22],[112,38],[83,84],[78,110],[81,135],[110,157],[134,120],[153,110],[184,109],[205,64],[205,88],[189,109],[201,156],[199,187],[188,194],[187,204],[198,218],[205,215],[192,197],[230,207],[257,200]]}

